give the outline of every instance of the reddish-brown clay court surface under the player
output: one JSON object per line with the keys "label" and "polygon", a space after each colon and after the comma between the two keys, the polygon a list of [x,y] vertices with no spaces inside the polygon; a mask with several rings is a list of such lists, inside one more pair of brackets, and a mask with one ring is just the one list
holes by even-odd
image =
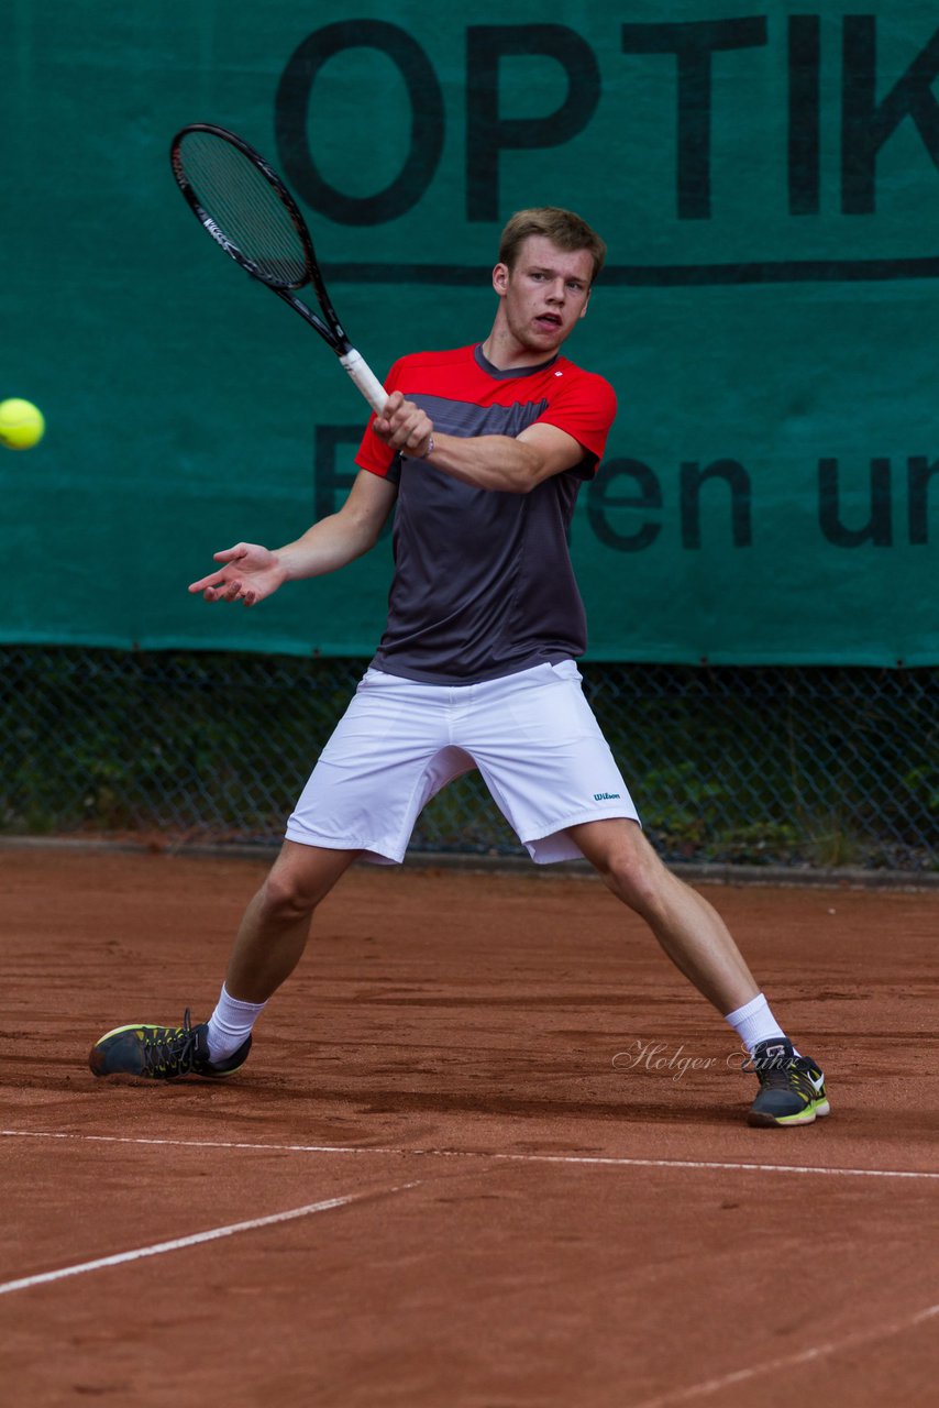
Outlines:
{"label": "reddish-brown clay court surface under the player", "polygon": [[935,1402],[938,891],[707,891],[804,1129],[579,876],[358,867],[238,1077],[96,1081],[265,869],[0,850],[4,1404]]}

